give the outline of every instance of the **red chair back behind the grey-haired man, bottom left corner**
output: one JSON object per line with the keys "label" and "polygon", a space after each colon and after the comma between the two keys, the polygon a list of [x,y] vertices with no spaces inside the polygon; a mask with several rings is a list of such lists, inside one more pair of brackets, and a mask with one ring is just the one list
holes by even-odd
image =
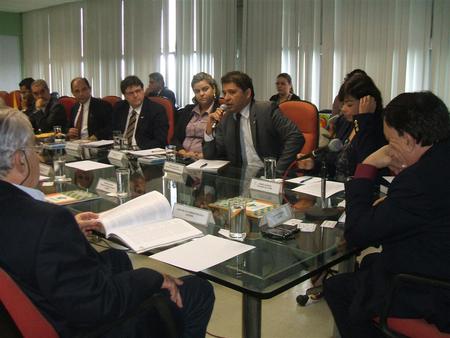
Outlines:
{"label": "red chair back behind the grey-haired man, bottom left corner", "polygon": [[1,268],[0,303],[24,338],[59,337],[53,326],[39,312],[28,296]]}

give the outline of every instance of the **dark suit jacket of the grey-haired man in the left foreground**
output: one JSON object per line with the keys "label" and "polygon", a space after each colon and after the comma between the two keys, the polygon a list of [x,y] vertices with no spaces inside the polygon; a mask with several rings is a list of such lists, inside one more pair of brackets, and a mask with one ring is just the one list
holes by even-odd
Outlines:
{"label": "dark suit jacket of the grey-haired man in the left foreground", "polygon": [[1,180],[0,205],[8,205],[0,208],[0,266],[61,336],[113,322],[160,290],[158,272],[107,262],[68,209],[34,200]]}

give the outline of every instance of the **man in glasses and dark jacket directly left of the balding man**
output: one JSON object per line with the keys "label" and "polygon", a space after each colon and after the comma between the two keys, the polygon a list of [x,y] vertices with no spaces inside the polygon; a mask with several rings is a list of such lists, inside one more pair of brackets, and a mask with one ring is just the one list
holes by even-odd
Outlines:
{"label": "man in glasses and dark jacket directly left of the balding man", "polygon": [[67,115],[64,106],[58,99],[50,95],[47,82],[36,80],[31,84],[31,92],[35,99],[36,111],[30,115],[30,121],[35,133],[48,133],[54,126],[61,126],[67,131]]}

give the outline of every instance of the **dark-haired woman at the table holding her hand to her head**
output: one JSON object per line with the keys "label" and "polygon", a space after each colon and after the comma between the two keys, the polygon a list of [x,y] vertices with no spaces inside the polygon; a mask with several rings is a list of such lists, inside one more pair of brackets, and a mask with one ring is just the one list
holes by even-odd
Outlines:
{"label": "dark-haired woman at the table holding her hand to her head", "polygon": [[[358,163],[386,144],[381,117],[383,101],[373,80],[360,72],[347,78],[338,98],[342,115],[336,119],[330,137],[340,139],[344,147],[337,154],[327,154],[325,161],[329,177],[345,182]],[[298,167],[310,170],[320,165],[304,160],[299,161]]]}

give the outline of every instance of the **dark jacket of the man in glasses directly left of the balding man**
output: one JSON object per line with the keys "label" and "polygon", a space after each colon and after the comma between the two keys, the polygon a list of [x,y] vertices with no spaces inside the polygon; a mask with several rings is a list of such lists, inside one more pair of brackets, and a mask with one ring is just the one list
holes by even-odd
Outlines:
{"label": "dark jacket of the man in glasses directly left of the balding man", "polygon": [[53,131],[53,126],[61,126],[62,131],[67,131],[68,121],[66,110],[58,99],[51,97],[45,110],[37,110],[30,116],[34,132],[48,133]]}

